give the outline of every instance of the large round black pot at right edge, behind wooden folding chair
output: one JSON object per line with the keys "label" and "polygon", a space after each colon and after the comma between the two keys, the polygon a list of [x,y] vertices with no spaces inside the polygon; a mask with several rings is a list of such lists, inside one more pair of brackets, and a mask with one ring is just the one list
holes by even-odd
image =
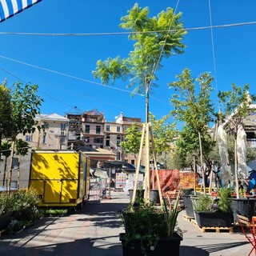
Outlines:
{"label": "large round black pot at right edge, behind wooden folding chair", "polygon": [[232,198],[231,208],[233,210],[234,221],[238,222],[237,214],[249,218],[251,221],[255,212],[256,199],[254,198]]}

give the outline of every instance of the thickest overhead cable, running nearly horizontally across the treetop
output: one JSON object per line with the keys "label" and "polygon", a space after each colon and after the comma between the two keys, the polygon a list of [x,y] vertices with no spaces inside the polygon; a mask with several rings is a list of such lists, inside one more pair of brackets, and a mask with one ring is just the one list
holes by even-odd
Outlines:
{"label": "thickest overhead cable, running nearly horizontally across the treetop", "polygon": [[[210,30],[215,28],[226,28],[230,26],[248,26],[255,25],[256,22],[240,22],[231,23],[215,26],[198,26],[191,28],[184,28],[187,31],[191,30]],[[122,34],[151,34],[151,33],[166,33],[175,32],[178,30],[154,30],[154,31],[144,31],[144,32],[106,32],[106,33],[28,33],[28,32],[0,32],[0,35],[27,35],[27,36],[110,36],[110,35],[122,35]]]}

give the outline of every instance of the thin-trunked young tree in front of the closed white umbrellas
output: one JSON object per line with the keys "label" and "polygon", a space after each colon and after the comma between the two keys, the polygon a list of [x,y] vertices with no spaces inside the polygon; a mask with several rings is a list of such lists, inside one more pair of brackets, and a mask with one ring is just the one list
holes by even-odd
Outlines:
{"label": "thin-trunked young tree in front of the closed white umbrellas", "polygon": [[239,198],[238,187],[238,130],[250,113],[255,111],[251,104],[256,100],[255,95],[249,95],[250,86],[246,84],[243,88],[232,84],[232,90],[219,91],[218,98],[222,113],[226,117],[229,132],[234,135],[234,178],[236,183],[236,194]]}

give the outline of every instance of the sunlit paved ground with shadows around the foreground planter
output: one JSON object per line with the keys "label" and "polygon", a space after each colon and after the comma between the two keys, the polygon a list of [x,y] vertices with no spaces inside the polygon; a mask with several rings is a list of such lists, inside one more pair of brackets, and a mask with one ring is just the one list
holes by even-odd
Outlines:
{"label": "sunlit paved ground with shadows around the foreground planter", "polygon": [[[89,201],[67,217],[43,218],[19,234],[0,237],[1,256],[122,256],[118,211],[129,203],[126,192],[111,191],[111,199]],[[183,231],[181,256],[243,256],[251,245],[242,233],[202,233],[178,216]],[[166,252],[166,255],[171,255]],[[132,255],[131,255],[132,256]]]}

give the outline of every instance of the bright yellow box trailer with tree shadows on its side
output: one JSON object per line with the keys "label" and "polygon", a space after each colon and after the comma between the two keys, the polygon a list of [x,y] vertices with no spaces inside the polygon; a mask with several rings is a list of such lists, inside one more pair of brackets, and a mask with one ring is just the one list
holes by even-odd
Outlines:
{"label": "bright yellow box trailer with tree shadows on its side", "polygon": [[82,206],[89,199],[90,158],[73,150],[33,150],[29,187],[38,206]]}

